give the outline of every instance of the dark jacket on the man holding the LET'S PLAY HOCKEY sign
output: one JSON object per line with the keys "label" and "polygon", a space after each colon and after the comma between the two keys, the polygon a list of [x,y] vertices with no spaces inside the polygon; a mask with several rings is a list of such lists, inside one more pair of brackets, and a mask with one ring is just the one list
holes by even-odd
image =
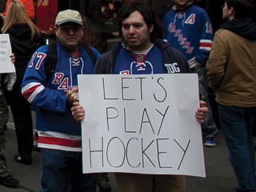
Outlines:
{"label": "dark jacket on the man holding the LET'S PLAY HOCKEY sign", "polygon": [[[177,63],[180,69],[179,73],[184,74],[191,72],[187,59],[179,50],[173,49],[168,43],[162,41],[161,39],[154,39],[154,42],[152,43],[155,43],[155,45],[163,53],[163,69],[165,70],[166,74],[168,71],[166,70],[165,64],[169,63]],[[101,55],[96,63],[96,66],[94,67],[94,74],[113,74],[116,56],[118,55],[121,46],[122,43],[117,43],[112,47],[112,50]]]}

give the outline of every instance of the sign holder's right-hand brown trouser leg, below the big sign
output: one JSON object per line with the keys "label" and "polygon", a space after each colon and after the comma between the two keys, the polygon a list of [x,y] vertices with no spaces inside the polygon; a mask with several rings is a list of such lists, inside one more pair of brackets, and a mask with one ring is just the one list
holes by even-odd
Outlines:
{"label": "sign holder's right-hand brown trouser leg, below the big sign", "polygon": [[182,175],[154,175],[154,192],[185,192],[186,181]]}

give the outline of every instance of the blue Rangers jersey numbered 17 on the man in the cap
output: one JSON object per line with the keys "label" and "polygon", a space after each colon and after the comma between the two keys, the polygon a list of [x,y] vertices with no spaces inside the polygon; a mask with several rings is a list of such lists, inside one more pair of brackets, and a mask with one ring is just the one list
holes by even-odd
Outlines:
{"label": "blue Rangers jersey numbered 17 on the man in the cap", "polygon": [[[98,51],[91,49],[99,58]],[[34,53],[24,75],[22,94],[36,112],[39,147],[82,151],[81,126],[71,114],[64,91],[77,86],[78,74],[92,74],[94,64],[82,47],[70,54],[57,42],[57,53],[56,68],[49,81],[44,70],[48,46]]]}

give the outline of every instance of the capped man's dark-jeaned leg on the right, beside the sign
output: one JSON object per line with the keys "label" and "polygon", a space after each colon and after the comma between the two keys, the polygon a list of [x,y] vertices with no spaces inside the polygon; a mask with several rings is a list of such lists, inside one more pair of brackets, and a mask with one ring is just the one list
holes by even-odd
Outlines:
{"label": "capped man's dark-jeaned leg on the right, beside the sign", "polygon": [[71,186],[73,192],[94,192],[98,174],[83,174],[82,153],[74,153],[68,160]]}

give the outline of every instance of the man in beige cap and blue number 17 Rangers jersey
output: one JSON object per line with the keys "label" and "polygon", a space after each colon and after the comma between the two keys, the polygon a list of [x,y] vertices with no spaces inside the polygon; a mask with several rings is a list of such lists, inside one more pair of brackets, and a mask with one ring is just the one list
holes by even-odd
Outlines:
{"label": "man in beige cap and blue number 17 Rangers jersey", "polygon": [[[27,66],[22,84],[23,97],[36,113],[38,147],[41,148],[40,191],[96,191],[97,174],[82,173],[81,126],[71,114],[77,91],[77,75],[91,74],[94,63],[80,46],[83,24],[75,10],[59,12],[55,19],[57,63],[47,80],[44,69],[48,46],[40,47]],[[95,57],[99,52],[90,47]],[[47,67],[46,67],[47,68]]]}

